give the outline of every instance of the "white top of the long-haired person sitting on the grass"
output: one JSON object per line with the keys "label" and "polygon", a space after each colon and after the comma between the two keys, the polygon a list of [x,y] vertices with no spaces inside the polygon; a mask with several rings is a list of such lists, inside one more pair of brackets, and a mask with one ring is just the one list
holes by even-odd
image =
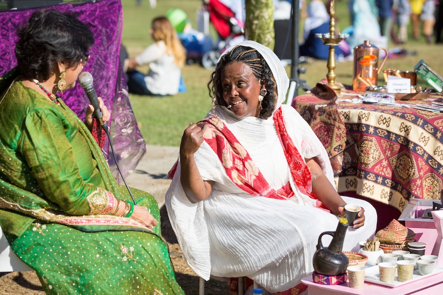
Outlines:
{"label": "white top of the long-haired person sitting on the grass", "polygon": [[153,94],[174,95],[178,93],[181,69],[174,62],[174,55],[166,52],[166,45],[158,41],[147,47],[135,60],[139,65],[149,65],[144,77],[146,87]]}

